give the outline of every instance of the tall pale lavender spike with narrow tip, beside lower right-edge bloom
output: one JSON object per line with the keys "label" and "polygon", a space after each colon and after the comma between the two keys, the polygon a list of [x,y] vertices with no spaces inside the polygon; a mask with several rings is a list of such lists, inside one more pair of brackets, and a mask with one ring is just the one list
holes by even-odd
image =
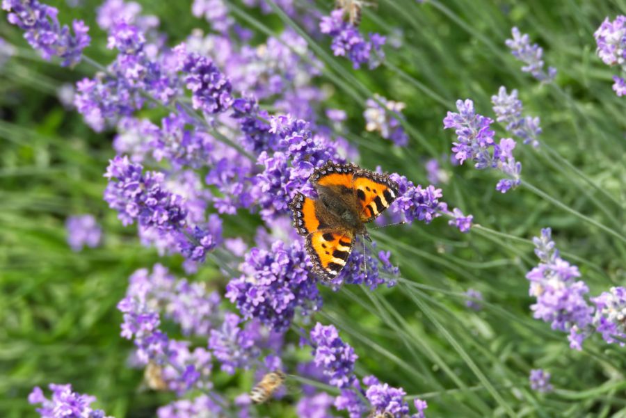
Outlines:
{"label": "tall pale lavender spike with narrow tip, beside lower right-edge bloom", "polygon": [[531,282],[529,294],[537,298],[531,310],[536,319],[551,323],[552,329],[570,332],[570,346],[580,349],[584,337],[576,331],[585,330],[592,321],[593,307],[584,298],[589,289],[575,280],[580,277],[577,266],[561,259],[551,234],[546,228],[533,238],[541,262],[526,275]]}

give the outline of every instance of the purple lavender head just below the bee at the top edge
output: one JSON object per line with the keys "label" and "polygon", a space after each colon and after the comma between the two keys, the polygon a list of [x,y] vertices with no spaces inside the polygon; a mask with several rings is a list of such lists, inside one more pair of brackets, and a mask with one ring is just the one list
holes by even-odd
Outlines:
{"label": "purple lavender head just below the bee at the top edge", "polygon": [[330,16],[324,16],[319,24],[321,33],[332,37],[330,48],[335,56],[346,56],[358,69],[368,64],[370,69],[380,65],[385,59],[383,45],[385,37],[378,33],[370,33],[369,41],[359,33],[358,28],[344,22],[343,10],[333,10]]}

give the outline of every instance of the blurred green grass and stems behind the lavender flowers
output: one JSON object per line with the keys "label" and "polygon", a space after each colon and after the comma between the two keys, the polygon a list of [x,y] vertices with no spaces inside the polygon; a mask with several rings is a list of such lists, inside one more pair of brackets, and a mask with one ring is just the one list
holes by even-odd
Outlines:
{"label": "blurred green grass and stems behind the lavender flowers", "polygon": [[[140,3],[161,19],[170,45],[195,27],[209,30],[186,1]],[[254,42],[293,24],[281,13],[264,16],[239,1],[227,3],[255,30]],[[111,61],[94,21],[99,1],[51,5],[60,8],[62,23],[85,19],[93,38],[86,54]],[[327,12],[332,5],[315,1],[315,7]],[[403,46],[387,47],[380,69],[354,71],[332,57],[327,40],[310,45],[326,65],[319,82],[335,90],[328,108],[348,112],[361,165],[383,166],[416,184],[426,184],[426,159],[449,154],[454,133],[443,131],[442,118],[456,99],[470,97],[479,113],[492,116],[490,97],[499,86],[517,88],[525,113],[541,118],[542,147],[515,150],[524,166],[516,191],[497,193],[491,172],[444,165],[451,173],[444,200],[474,215],[478,225],[469,234],[444,218],[377,231],[379,248],[392,250],[401,267],[399,285],[323,291],[325,307],[315,319],[335,323],[355,346],[358,372],[426,399],[429,418],[626,417],[625,348],[594,337],[584,351],[570,350],[565,335],[532,319],[524,278],[536,264],[530,239],[549,226],[592,295],[626,285],[625,99],[611,90],[614,72],[595,56],[593,39],[604,17],[624,10],[623,0],[380,0],[364,13],[363,31],[403,31]],[[559,70],[554,84],[541,86],[520,71],[504,46],[511,26],[545,48],[547,65]],[[48,383],[94,394],[118,418],[152,416],[172,398],[138,390],[142,372],[127,367],[131,343],[119,336],[115,304],[129,274],[159,257],[102,201],[113,133],[95,134],[56,99],[58,86],[93,70],[40,60],[6,16],[0,35],[18,48],[0,68],[0,416],[35,416],[26,396],[33,385]],[[373,93],[407,104],[406,149],[364,132],[364,100]],[[151,112],[158,111],[145,115]],[[508,135],[499,127],[498,136]],[[64,222],[82,213],[102,222],[104,246],[75,253]],[[246,225],[258,220],[246,218],[244,226],[225,219],[226,233],[251,236]],[[180,271],[180,259],[161,262]],[[228,278],[207,262],[193,279],[223,289]],[[483,292],[483,311],[467,310],[467,287]],[[529,389],[529,371],[538,367],[552,373],[552,394]],[[250,389],[247,375],[216,380],[232,396]],[[290,401],[264,413],[294,417]]]}

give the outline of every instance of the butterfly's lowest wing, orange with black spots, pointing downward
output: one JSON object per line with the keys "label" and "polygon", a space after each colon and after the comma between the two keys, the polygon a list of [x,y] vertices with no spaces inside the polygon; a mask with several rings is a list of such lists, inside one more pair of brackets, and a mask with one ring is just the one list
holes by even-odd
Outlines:
{"label": "butterfly's lowest wing, orange with black spots, pointing downward", "polygon": [[348,230],[320,230],[307,236],[307,251],[313,272],[330,281],[339,275],[354,246],[354,234]]}

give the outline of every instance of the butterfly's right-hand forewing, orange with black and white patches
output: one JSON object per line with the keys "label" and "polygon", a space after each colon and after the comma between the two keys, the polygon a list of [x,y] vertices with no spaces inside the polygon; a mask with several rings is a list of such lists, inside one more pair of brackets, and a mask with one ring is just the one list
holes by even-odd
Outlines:
{"label": "butterfly's right-hand forewing, orange with black and white patches", "polygon": [[363,223],[376,219],[398,196],[398,184],[390,179],[387,173],[358,170],[353,175],[353,188],[356,191]]}

